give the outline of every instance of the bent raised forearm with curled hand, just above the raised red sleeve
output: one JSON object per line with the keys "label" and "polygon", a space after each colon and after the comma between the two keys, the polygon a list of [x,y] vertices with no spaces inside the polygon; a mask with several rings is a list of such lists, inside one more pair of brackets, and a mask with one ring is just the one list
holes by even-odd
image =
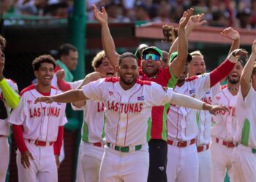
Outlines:
{"label": "bent raised forearm with curled hand, just above the raised red sleeve", "polygon": [[[232,27],[225,28],[221,32],[221,34],[222,34],[222,36],[225,36],[228,39],[233,41],[232,45],[230,47],[230,52],[232,52],[233,50],[236,50],[240,47],[240,34],[234,28],[232,28]],[[228,54],[230,54],[230,52],[228,52]]]}

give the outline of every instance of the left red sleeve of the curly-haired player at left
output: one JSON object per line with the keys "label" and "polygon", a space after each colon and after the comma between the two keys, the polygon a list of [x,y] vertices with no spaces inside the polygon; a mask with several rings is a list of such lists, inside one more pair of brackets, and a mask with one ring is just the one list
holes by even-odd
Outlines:
{"label": "left red sleeve of the curly-haired player at left", "polygon": [[20,152],[29,151],[26,147],[24,138],[23,138],[23,128],[22,125],[12,124],[13,135],[15,139],[16,146]]}

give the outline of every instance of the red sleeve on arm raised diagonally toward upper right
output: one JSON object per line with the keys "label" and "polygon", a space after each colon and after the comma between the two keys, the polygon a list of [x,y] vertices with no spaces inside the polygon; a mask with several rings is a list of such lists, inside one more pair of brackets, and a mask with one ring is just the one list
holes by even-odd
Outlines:
{"label": "red sleeve on arm raised diagonally toward upper right", "polygon": [[210,73],[210,80],[211,80],[211,86],[213,87],[215,84],[220,82],[222,79],[225,79],[225,77],[230,74],[230,72],[233,70],[236,63],[232,63],[230,60],[225,60],[220,66],[218,66],[214,71],[211,71]]}

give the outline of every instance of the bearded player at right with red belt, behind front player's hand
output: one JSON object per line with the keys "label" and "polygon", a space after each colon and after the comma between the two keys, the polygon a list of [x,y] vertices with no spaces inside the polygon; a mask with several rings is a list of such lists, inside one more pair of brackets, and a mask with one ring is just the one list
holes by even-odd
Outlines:
{"label": "bearded player at right with red belt, behind front player's hand", "polygon": [[226,168],[233,181],[231,155],[235,147],[233,136],[236,132],[236,99],[239,90],[243,63],[239,60],[233,71],[227,76],[227,85],[214,95],[213,104],[227,106],[229,111],[212,116],[215,123],[211,128],[211,158],[213,166],[213,181],[224,181]]}

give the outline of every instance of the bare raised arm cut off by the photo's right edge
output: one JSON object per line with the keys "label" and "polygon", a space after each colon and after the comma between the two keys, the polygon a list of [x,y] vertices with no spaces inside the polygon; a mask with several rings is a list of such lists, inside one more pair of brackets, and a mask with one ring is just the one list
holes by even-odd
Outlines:
{"label": "bare raised arm cut off by the photo's right edge", "polygon": [[246,95],[249,92],[249,89],[251,87],[251,76],[252,76],[252,70],[256,59],[256,39],[252,43],[252,54],[249,57],[249,60],[247,61],[246,65],[244,66],[244,70],[241,74],[241,92],[243,95],[243,98],[246,98]]}

